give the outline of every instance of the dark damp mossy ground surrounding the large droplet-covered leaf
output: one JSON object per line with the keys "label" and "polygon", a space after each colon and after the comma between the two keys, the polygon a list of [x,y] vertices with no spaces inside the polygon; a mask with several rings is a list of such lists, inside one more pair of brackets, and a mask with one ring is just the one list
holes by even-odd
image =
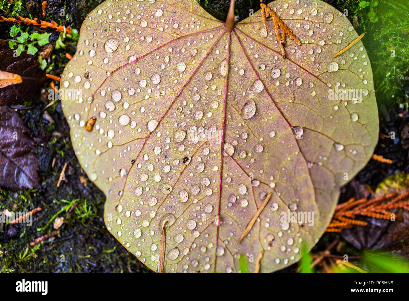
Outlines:
{"label": "dark damp mossy ground surrounding the large droplet-covered leaf", "polygon": [[[398,2],[400,0],[397,0]],[[101,0],[49,0],[47,16],[41,16],[38,0],[14,0],[11,5],[8,0],[0,0],[0,15],[6,17],[40,17],[42,20],[55,20],[59,24],[71,25],[79,29],[85,16],[96,7]],[[200,0],[200,5],[216,18],[223,20],[228,11],[229,1]],[[345,201],[353,195],[359,194],[361,184],[375,188],[387,176],[398,172],[409,172],[408,150],[409,114],[407,112],[408,84],[408,57],[409,46],[402,44],[406,41],[409,26],[402,19],[400,27],[394,31],[384,30],[387,19],[377,23],[369,22],[365,11],[358,5],[358,0],[328,0],[328,3],[340,11],[348,9],[348,18],[353,20],[358,16],[358,33],[368,32],[364,44],[371,57],[374,68],[377,99],[380,106],[380,133],[390,135],[396,133],[396,139],[380,139],[375,153],[393,160],[393,164],[380,163],[371,160],[357,177],[342,188],[340,201]],[[64,16],[61,16],[64,9]],[[239,19],[246,18],[253,10],[259,9],[258,0],[237,0],[236,15]],[[0,38],[9,38],[11,24],[0,23]],[[32,27],[21,25],[20,28],[32,32]],[[390,28],[390,27],[388,27]],[[42,31],[44,32],[44,31]],[[58,33],[52,32],[50,41],[58,40]],[[388,40],[386,40],[387,36]],[[371,37],[373,37],[371,39]],[[382,40],[384,39],[384,40]],[[392,46],[388,41],[400,45],[396,48],[397,56],[390,68],[390,72],[375,72],[384,68],[382,63],[388,61]],[[65,53],[74,54],[74,41],[65,39],[66,48],[54,50],[52,57],[47,60],[46,71],[60,75],[67,63]],[[393,44],[393,43],[392,43]],[[384,47],[385,46],[385,47]],[[406,48],[405,48],[406,47]],[[400,51],[400,52],[399,52]],[[403,56],[403,54],[408,54]],[[390,61],[389,61],[390,62]],[[57,83],[56,83],[57,84]],[[23,224],[0,226],[0,271],[1,272],[150,272],[106,230],[103,222],[104,197],[86,177],[72,150],[69,127],[61,110],[60,102],[47,109],[49,117],[44,115],[43,109],[47,105],[49,84],[44,86],[44,93],[25,105],[34,106],[32,109],[19,110],[20,116],[30,129],[31,136],[36,143],[37,156],[40,165],[39,190],[0,191],[0,210],[29,211],[36,207],[43,210],[33,216],[33,226]],[[65,180],[59,188],[56,187],[63,165],[68,162],[65,171]],[[69,211],[71,204],[77,203],[76,209]],[[29,247],[29,242],[41,235],[51,233],[54,218],[64,217],[64,223],[59,229],[61,234],[54,239]],[[334,239],[342,238],[338,234],[325,234],[315,247],[314,251],[322,251]],[[359,250],[348,243],[343,243],[338,254],[348,253],[358,255]],[[62,260],[62,258],[64,260]],[[284,269],[282,272],[295,272],[297,265]]]}

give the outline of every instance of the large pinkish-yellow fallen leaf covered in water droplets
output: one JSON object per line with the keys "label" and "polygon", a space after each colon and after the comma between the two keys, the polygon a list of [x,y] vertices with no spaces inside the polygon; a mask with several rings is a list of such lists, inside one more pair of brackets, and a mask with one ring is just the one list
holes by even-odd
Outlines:
{"label": "large pinkish-yellow fallen leaf covered in water droplets", "polygon": [[260,11],[228,33],[196,1],[106,1],[81,27],[61,81],[72,144],[108,230],[154,271],[162,237],[165,272],[236,272],[240,256],[254,271],[262,251],[261,272],[296,262],[373,152],[366,51],[331,58],[357,38],[351,23],[321,1],[269,6],[302,43],[287,39],[285,60]]}

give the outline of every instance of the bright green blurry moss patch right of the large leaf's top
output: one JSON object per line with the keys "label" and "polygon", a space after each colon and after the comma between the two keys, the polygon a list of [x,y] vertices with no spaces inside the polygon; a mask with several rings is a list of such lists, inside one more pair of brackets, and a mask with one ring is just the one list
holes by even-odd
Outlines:
{"label": "bright green blurry moss patch right of the large leaf's top", "polygon": [[[328,2],[328,1],[327,1]],[[409,19],[407,0],[371,0],[361,7],[360,0],[338,0],[337,9],[348,9],[348,18],[358,17],[358,34],[366,32],[362,43],[373,70],[378,104],[403,104],[409,76]],[[378,3],[373,6],[374,3]],[[406,77],[406,79],[405,79]]]}

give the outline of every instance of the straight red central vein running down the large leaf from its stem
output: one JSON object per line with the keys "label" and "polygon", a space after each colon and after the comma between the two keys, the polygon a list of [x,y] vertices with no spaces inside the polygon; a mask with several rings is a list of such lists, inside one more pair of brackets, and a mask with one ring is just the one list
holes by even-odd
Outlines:
{"label": "straight red central vein running down the large leaf from its stem", "polygon": [[214,248],[214,272],[216,272],[216,252],[219,241],[219,225],[220,225],[220,204],[222,200],[222,176],[223,176],[223,152],[225,144],[225,129],[226,129],[226,103],[227,103],[227,83],[229,79],[229,57],[230,57],[230,32],[227,32],[227,49],[226,49],[226,76],[225,76],[225,93],[223,96],[223,120],[222,120],[222,140],[220,143],[220,185],[219,185],[219,202],[218,202],[218,223],[216,224],[216,247]]}

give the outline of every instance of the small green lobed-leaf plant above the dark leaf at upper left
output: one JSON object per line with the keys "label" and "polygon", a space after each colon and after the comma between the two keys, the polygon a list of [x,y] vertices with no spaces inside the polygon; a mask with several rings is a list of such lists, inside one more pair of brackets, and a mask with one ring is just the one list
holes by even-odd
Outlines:
{"label": "small green lobed-leaf plant above the dark leaf at upper left", "polygon": [[[18,34],[20,34],[18,36]],[[33,32],[32,34],[28,34],[27,32],[21,32],[20,28],[16,25],[13,25],[10,28],[10,36],[13,38],[9,40],[9,46],[11,49],[14,49],[14,46],[17,46],[16,54],[20,56],[21,52],[27,48],[28,54],[36,54],[38,52],[38,48],[36,48],[35,44],[38,46],[43,46],[48,44],[48,38],[51,36],[49,33],[39,34],[38,32]]]}

